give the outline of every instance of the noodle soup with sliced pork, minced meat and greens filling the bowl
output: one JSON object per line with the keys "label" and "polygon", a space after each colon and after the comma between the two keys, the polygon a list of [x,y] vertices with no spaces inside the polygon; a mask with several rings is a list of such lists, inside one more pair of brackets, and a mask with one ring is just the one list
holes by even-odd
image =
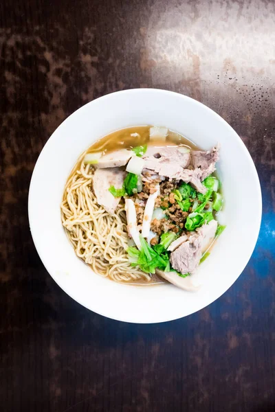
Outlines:
{"label": "noodle soup with sliced pork, minced meat and greens filling the bowl", "polygon": [[177,253],[182,245],[188,253],[199,244],[202,261],[224,229],[217,225],[222,197],[213,175],[216,160],[216,148],[202,152],[164,127],[124,128],[96,141],[76,162],[61,204],[76,255],[116,282],[166,280],[192,290],[197,257],[187,272],[186,257]]}

